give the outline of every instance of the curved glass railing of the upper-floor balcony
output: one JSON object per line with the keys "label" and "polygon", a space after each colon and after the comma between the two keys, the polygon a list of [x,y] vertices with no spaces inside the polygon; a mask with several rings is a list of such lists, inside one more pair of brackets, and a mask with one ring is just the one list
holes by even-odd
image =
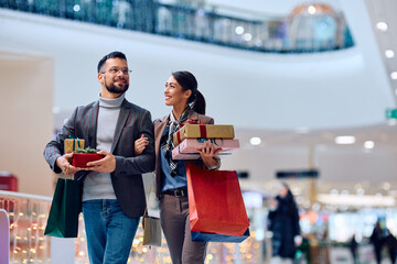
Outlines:
{"label": "curved glass railing of the upper-floor balcony", "polygon": [[0,0],[0,8],[265,53],[326,52],[354,45],[342,12],[276,18],[154,0]]}

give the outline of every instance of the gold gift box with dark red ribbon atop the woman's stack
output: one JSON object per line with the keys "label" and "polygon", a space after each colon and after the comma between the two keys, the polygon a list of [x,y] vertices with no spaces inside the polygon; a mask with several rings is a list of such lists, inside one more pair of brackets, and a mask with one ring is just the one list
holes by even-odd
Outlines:
{"label": "gold gift box with dark red ribbon atop the woman's stack", "polygon": [[230,124],[185,124],[173,135],[174,146],[184,139],[234,139],[234,127]]}

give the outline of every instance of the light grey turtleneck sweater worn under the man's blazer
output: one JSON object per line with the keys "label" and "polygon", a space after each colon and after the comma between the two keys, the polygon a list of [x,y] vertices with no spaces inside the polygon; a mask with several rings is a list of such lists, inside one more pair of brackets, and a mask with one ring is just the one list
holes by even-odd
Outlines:
{"label": "light grey turtleneck sweater worn under the man's blazer", "polygon": [[[97,150],[110,152],[124,99],[125,95],[116,99],[106,99],[99,96]],[[116,199],[109,173],[90,172],[85,178],[83,201],[96,199]]]}

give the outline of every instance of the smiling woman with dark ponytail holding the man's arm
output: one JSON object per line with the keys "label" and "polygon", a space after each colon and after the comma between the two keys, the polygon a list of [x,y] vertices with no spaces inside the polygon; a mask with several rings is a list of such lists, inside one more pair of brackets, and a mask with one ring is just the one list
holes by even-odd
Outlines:
{"label": "smiling woman with dark ponytail holding the man's arm", "polygon": [[[205,99],[197,90],[197,81],[189,72],[172,73],[164,89],[165,105],[170,114],[154,121],[155,183],[160,199],[160,218],[173,264],[204,263],[206,243],[192,241],[189,217],[187,182],[185,164],[194,163],[207,169],[219,167],[217,151],[206,142],[197,150],[201,160],[173,161],[173,134],[185,123],[213,124],[205,114]],[[136,153],[148,144],[146,138],[136,142]]]}

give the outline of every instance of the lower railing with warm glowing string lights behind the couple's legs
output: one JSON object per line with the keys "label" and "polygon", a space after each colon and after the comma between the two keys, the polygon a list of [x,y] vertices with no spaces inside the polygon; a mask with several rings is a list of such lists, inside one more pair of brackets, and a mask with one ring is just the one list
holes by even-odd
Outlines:
{"label": "lower railing with warm glowing string lights behind the couple's legs", "polygon": [[[51,200],[51,197],[0,190],[0,209],[4,209],[10,218],[10,264],[57,263],[60,256],[55,250],[51,250],[52,240],[44,235]],[[153,215],[155,213],[154,210]],[[140,223],[128,263],[171,263],[167,241],[162,238],[162,246],[143,245],[143,229]],[[57,243],[62,243],[62,240]],[[78,238],[74,240],[74,244],[72,243],[75,264],[89,263],[86,241],[84,219],[81,215]],[[62,249],[65,250],[67,246],[68,243]],[[256,232],[251,230],[251,237],[239,244],[210,243],[205,263],[260,263],[261,246],[262,242],[256,240]]]}

